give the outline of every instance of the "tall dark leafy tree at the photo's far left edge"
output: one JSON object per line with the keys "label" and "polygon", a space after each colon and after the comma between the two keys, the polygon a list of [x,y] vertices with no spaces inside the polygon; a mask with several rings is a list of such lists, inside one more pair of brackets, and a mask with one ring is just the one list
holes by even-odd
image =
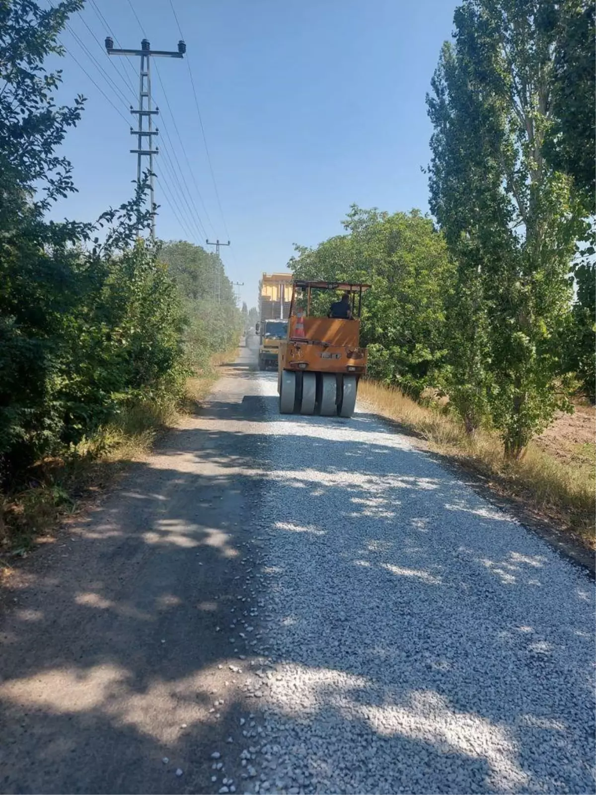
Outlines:
{"label": "tall dark leafy tree at the photo's far left edge", "polygon": [[41,444],[60,429],[53,354],[60,318],[75,301],[64,290],[74,267],[67,248],[90,230],[43,220],[73,189],[70,164],[56,148],[83,107],[82,97],[56,107],[60,72],[48,74],[43,61],[62,52],[58,33],[81,7],[75,0],[49,11],[25,0],[0,4],[0,456],[22,445],[29,458],[26,440]]}

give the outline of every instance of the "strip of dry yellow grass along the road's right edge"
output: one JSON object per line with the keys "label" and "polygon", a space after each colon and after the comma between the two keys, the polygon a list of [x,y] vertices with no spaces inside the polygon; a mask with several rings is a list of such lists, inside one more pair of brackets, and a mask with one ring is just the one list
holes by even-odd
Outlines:
{"label": "strip of dry yellow grass along the road's right edge", "polygon": [[496,434],[480,431],[470,439],[454,418],[376,382],[362,382],[358,391],[378,413],[422,437],[435,452],[482,475],[494,491],[523,503],[526,510],[596,549],[594,463],[563,462],[534,442],[521,461],[508,462]]}

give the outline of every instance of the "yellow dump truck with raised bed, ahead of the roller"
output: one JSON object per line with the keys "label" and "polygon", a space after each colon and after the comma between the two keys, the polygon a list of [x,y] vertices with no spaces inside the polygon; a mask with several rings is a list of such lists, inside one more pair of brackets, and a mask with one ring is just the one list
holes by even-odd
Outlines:
{"label": "yellow dump truck with raised bed, ahead of the roller", "polygon": [[288,335],[292,273],[263,273],[259,283],[259,370],[277,367],[279,347]]}

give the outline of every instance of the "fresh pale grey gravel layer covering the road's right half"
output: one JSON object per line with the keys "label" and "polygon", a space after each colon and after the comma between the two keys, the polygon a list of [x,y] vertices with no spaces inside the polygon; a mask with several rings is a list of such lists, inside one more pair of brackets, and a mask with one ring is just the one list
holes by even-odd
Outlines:
{"label": "fresh pale grey gravel layer covering the road's right half", "polygon": [[594,583],[377,417],[280,417],[260,382],[271,663],[238,791],[596,792]]}

